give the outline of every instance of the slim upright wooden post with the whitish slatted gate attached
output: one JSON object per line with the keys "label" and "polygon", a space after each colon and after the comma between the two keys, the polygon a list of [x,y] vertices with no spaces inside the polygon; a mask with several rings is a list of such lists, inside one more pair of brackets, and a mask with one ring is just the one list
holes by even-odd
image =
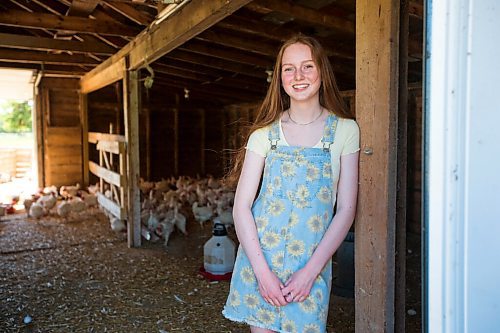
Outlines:
{"label": "slim upright wooden post with the whitish slatted gate attached", "polygon": [[141,246],[141,198],[139,193],[139,75],[126,71],[123,77],[123,111],[127,141],[128,246]]}

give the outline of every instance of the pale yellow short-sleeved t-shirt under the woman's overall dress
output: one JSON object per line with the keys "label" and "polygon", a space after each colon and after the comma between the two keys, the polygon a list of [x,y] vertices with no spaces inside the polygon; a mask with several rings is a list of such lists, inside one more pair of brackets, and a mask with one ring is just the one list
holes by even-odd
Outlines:
{"label": "pale yellow short-sleeved t-shirt under the woman's overall dress", "polygon": [[[271,150],[271,142],[269,142],[269,130],[272,125],[260,128],[253,132],[248,139],[246,149],[266,157]],[[281,119],[279,121],[280,139],[278,146],[288,146],[283,134]],[[314,148],[323,148],[321,140]],[[332,181],[333,181],[333,198],[335,204],[337,197],[337,185],[340,175],[340,156],[348,155],[359,151],[359,127],[356,121],[352,119],[339,118],[337,129],[335,131],[335,139],[330,146],[330,156],[332,160]]]}

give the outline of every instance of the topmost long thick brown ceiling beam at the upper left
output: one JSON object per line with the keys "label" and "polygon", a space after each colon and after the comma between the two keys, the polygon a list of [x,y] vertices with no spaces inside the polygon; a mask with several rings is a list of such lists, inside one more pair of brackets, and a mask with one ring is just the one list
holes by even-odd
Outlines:
{"label": "topmost long thick brown ceiling beam at the upper left", "polygon": [[57,16],[53,14],[32,13],[9,10],[0,12],[0,25],[32,28],[64,30],[72,33],[97,33],[110,36],[136,36],[139,30],[123,24],[102,22],[83,17]]}

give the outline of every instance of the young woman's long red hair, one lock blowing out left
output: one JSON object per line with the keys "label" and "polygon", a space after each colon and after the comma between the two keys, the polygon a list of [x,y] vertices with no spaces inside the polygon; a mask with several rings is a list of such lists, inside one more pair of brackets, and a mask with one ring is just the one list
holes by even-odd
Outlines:
{"label": "young woman's long red hair, one lock blowing out left", "polygon": [[[278,52],[266,97],[257,111],[255,122],[248,129],[246,140],[244,141],[245,143],[248,142],[250,134],[259,128],[266,127],[278,120],[281,117],[281,114],[290,107],[290,97],[283,89],[281,82],[281,65],[285,49],[296,43],[309,46],[313,61],[318,66],[321,75],[321,87],[319,89],[320,105],[341,118],[354,118],[340,95],[332,66],[325,50],[316,39],[299,34],[285,41]],[[232,168],[225,177],[225,180],[229,185],[235,186],[238,183],[244,158],[245,148],[241,147],[234,154]]]}

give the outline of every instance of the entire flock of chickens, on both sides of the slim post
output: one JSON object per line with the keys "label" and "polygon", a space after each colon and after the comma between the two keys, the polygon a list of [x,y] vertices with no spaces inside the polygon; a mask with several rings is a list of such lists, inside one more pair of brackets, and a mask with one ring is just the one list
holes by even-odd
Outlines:
{"label": "entire flock of chickens, on both sides of the slim post", "polygon": [[[149,241],[164,240],[168,244],[170,235],[179,230],[187,235],[188,220],[196,220],[203,226],[208,221],[220,222],[226,228],[233,225],[232,207],[234,190],[213,177],[172,177],[158,182],[140,180],[142,236]],[[40,219],[56,215],[63,219],[77,216],[89,207],[97,206],[98,185],[86,190],[79,184],[74,186],[45,187],[23,201],[28,217]],[[110,191],[106,191],[104,195]],[[108,196],[108,195],[107,195]],[[126,229],[121,221],[106,212],[111,229],[120,232]]]}

